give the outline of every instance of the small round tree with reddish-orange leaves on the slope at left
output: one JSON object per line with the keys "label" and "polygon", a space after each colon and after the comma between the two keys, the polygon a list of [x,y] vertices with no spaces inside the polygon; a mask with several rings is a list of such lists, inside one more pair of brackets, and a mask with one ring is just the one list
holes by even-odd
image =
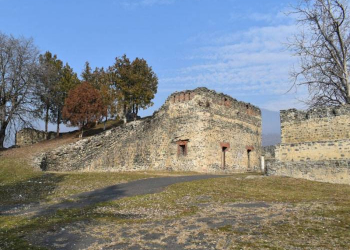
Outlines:
{"label": "small round tree with reddish-orange leaves on the slope at left", "polygon": [[101,94],[88,82],[69,91],[63,108],[63,118],[68,126],[77,126],[83,137],[84,129],[106,116],[107,108]]}

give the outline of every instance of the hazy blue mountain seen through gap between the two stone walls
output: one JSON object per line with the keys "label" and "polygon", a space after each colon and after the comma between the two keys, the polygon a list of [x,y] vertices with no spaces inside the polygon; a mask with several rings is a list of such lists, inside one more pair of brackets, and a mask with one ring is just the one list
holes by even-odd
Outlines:
{"label": "hazy blue mountain seen through gap between the two stone walls", "polygon": [[270,146],[281,142],[280,113],[261,109],[262,113],[262,145]]}

